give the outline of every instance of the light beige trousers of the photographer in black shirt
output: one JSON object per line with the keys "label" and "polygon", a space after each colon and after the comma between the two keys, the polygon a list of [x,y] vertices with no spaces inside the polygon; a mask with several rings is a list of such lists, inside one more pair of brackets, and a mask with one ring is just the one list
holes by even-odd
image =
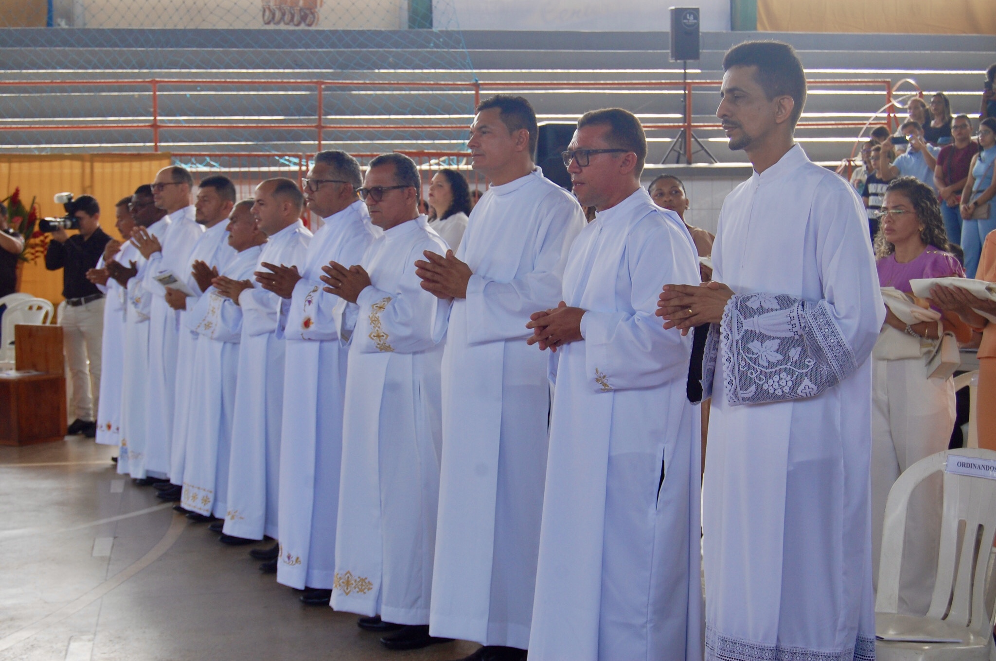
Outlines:
{"label": "light beige trousers of the photographer in black shirt", "polygon": [[59,325],[63,327],[63,347],[73,384],[73,415],[81,420],[97,418],[101,392],[101,341],[104,335],[104,299],[62,306]]}

